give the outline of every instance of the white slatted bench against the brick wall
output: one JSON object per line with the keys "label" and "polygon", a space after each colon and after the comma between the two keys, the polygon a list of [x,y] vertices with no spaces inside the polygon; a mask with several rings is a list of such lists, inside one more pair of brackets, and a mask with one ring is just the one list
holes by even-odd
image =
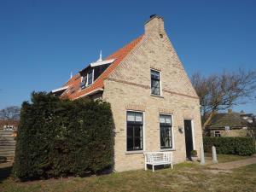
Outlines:
{"label": "white slatted bench against the brick wall", "polygon": [[147,165],[152,165],[152,171],[154,172],[154,166],[171,165],[172,166],[172,152],[145,152],[145,170]]}

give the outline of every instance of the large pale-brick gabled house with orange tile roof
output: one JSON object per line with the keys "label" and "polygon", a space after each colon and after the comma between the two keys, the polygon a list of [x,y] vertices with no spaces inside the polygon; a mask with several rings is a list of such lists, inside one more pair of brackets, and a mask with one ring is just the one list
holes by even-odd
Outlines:
{"label": "large pale-brick gabled house with orange tile roof", "polygon": [[143,35],[113,55],[100,55],[52,93],[111,103],[117,172],[143,168],[143,152],[173,151],[178,163],[200,150],[199,97],[159,15],[150,16]]}

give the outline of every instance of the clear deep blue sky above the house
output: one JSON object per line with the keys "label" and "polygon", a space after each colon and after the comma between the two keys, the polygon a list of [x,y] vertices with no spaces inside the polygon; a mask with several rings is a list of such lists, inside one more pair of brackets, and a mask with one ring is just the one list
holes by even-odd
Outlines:
{"label": "clear deep blue sky above the house", "polygon": [[[0,1],[0,108],[53,90],[91,61],[143,33],[149,15],[189,76],[256,69],[256,1]],[[236,107],[256,113],[256,102]]]}

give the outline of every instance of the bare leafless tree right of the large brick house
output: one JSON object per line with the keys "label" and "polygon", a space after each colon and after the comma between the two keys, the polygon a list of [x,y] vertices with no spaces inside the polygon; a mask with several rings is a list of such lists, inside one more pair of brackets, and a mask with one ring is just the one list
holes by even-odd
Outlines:
{"label": "bare leafless tree right of the large brick house", "polygon": [[208,77],[195,73],[191,82],[200,97],[203,129],[214,113],[244,104],[247,102],[245,99],[255,98],[256,71],[253,70],[239,69],[233,73],[224,71]]}

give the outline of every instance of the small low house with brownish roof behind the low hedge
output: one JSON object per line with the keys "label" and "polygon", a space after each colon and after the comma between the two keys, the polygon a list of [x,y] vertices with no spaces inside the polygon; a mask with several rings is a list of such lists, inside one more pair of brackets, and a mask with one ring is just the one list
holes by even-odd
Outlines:
{"label": "small low house with brownish roof behind the low hedge", "polygon": [[253,113],[215,113],[206,127],[211,137],[255,137],[255,116]]}

